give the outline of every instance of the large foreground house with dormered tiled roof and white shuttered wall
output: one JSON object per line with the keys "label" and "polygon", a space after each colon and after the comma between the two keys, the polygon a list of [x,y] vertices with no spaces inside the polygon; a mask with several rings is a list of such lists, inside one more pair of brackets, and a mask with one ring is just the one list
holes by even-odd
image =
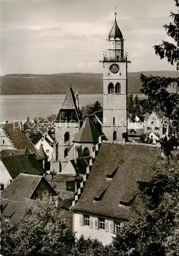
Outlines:
{"label": "large foreground house with dormered tiled roof and white shuttered wall", "polygon": [[138,202],[138,180],[148,181],[161,156],[160,146],[103,141],[85,186],[71,207],[77,238],[111,242]]}

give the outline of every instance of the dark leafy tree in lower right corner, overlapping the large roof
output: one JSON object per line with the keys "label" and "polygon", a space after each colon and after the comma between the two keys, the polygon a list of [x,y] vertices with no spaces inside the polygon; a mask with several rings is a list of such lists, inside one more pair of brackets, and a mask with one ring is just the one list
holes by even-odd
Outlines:
{"label": "dark leafy tree in lower right corner, overlapping the large roof", "polygon": [[178,256],[178,163],[160,161],[151,180],[138,184],[143,203],[113,239],[114,255]]}

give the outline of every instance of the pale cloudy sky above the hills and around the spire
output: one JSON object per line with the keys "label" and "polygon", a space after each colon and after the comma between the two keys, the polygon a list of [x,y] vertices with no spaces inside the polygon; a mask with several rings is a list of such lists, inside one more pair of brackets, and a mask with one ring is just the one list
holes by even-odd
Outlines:
{"label": "pale cloudy sky above the hills and around the spire", "polygon": [[128,71],[176,70],[154,45],[171,39],[163,28],[176,12],[168,1],[1,1],[1,74],[102,73],[99,62],[117,23],[131,61]]}

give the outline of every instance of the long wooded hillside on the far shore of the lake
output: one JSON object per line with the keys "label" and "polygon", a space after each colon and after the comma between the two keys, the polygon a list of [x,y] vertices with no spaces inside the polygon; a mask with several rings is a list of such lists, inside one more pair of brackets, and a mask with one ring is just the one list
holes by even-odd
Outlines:
{"label": "long wooded hillside on the far shore of the lake", "polygon": [[[140,74],[178,77],[176,71],[146,71],[128,73],[128,93],[139,93]],[[61,73],[52,75],[8,74],[1,77],[1,94],[65,94],[71,83],[80,94],[103,92],[102,74]]]}

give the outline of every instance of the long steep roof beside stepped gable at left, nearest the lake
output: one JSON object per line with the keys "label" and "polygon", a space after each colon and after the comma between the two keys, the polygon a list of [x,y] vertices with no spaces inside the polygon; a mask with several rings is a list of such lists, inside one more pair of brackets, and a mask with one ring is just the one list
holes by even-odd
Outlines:
{"label": "long steep roof beside stepped gable at left, nearest the lake", "polygon": [[5,123],[3,129],[18,150],[26,150],[27,148],[28,152],[34,154],[37,159],[42,159],[30,139],[20,130],[19,123]]}

